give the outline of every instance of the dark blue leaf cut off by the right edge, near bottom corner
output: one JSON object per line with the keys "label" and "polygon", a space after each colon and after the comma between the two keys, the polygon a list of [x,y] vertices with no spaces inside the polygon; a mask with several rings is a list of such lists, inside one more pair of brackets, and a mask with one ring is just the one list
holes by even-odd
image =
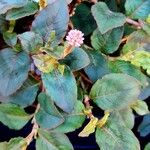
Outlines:
{"label": "dark blue leaf cut off by the right edge, near bottom corner", "polygon": [[138,131],[142,137],[150,133],[150,114],[144,116],[142,123],[138,127]]}

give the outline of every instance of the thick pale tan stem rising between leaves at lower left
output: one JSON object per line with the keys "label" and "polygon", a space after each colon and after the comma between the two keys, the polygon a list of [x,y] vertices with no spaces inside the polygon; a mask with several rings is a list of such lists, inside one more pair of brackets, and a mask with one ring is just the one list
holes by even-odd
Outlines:
{"label": "thick pale tan stem rising between leaves at lower left", "polygon": [[33,138],[35,138],[36,135],[37,135],[37,130],[38,130],[39,126],[38,126],[38,124],[37,124],[37,122],[36,122],[35,114],[39,111],[39,109],[40,109],[40,104],[37,105],[36,110],[35,110],[35,113],[34,113],[34,117],[33,117],[33,119],[32,119],[32,123],[33,123],[32,131],[31,131],[31,133],[25,138],[25,140],[26,140],[26,142],[27,142],[27,145],[29,145],[29,144],[32,142]]}

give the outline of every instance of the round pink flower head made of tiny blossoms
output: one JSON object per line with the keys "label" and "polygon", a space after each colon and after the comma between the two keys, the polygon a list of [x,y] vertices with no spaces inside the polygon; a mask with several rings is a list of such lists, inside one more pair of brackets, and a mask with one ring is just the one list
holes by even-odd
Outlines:
{"label": "round pink flower head made of tiny blossoms", "polygon": [[80,47],[83,44],[83,33],[77,29],[70,30],[68,35],[66,36],[66,40],[68,43],[75,47]]}

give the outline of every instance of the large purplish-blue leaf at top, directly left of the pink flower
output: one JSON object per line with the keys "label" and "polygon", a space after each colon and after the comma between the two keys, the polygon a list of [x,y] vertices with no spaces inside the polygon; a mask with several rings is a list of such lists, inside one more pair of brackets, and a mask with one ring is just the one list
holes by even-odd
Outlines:
{"label": "large purplish-blue leaf at top, directly left of the pink flower", "polygon": [[32,23],[32,31],[41,35],[47,42],[50,33],[55,30],[56,41],[60,41],[68,28],[69,13],[64,0],[55,0],[39,12]]}

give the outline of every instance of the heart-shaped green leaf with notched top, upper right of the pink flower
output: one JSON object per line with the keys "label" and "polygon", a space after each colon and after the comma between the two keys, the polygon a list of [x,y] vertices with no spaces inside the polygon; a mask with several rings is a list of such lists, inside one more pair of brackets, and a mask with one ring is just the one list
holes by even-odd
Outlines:
{"label": "heart-shaped green leaf with notched top, upper right of the pink flower", "polygon": [[113,28],[123,26],[126,17],[122,13],[109,10],[104,2],[98,2],[92,6],[92,14],[97,22],[99,31],[104,34]]}

